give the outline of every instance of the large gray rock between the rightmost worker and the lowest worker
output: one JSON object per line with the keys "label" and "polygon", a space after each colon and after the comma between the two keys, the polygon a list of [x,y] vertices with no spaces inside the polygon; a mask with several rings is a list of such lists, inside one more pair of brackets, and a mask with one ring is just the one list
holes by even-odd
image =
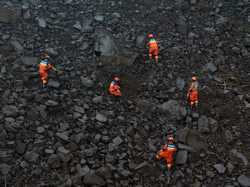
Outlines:
{"label": "large gray rock between the rightmost worker and the lowest worker", "polygon": [[180,120],[187,115],[187,110],[176,100],[169,100],[168,102],[158,105],[158,108],[164,112],[169,112],[171,116],[175,117],[177,120]]}

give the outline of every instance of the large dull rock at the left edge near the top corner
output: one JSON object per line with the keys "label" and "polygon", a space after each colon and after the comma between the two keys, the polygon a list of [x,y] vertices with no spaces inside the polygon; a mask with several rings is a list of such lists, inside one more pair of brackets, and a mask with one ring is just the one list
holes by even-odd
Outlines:
{"label": "large dull rock at the left edge near the top corner", "polygon": [[15,10],[0,7],[0,22],[3,23],[15,23],[18,18],[18,13]]}

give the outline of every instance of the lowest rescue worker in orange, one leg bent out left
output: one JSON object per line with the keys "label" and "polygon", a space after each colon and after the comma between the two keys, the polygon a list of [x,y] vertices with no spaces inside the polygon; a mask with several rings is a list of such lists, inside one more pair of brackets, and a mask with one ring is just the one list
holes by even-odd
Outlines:
{"label": "lowest rescue worker in orange, one leg bent out left", "polygon": [[168,136],[168,142],[163,148],[156,154],[156,158],[159,160],[163,158],[166,161],[168,171],[172,169],[174,165],[174,156],[177,151],[176,145],[174,144],[173,135]]}

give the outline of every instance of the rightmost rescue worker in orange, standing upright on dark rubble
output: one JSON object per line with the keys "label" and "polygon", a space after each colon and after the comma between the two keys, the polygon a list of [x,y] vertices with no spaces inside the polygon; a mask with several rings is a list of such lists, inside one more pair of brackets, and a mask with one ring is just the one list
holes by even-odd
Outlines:
{"label": "rightmost rescue worker in orange, standing upright on dark rubble", "polygon": [[189,101],[191,108],[193,108],[194,106],[197,108],[198,106],[198,96],[199,96],[198,86],[199,86],[199,83],[198,83],[197,77],[192,76],[192,82],[187,93],[187,99]]}

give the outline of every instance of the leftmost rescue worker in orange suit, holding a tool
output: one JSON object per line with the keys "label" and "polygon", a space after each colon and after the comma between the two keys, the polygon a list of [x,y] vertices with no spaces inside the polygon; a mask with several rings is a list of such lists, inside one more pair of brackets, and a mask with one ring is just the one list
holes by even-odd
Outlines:
{"label": "leftmost rescue worker in orange suit, holding a tool", "polygon": [[42,54],[42,60],[39,64],[39,74],[40,80],[42,82],[43,88],[48,84],[48,73],[51,69],[57,71],[57,69],[49,63],[49,55],[47,53]]}

